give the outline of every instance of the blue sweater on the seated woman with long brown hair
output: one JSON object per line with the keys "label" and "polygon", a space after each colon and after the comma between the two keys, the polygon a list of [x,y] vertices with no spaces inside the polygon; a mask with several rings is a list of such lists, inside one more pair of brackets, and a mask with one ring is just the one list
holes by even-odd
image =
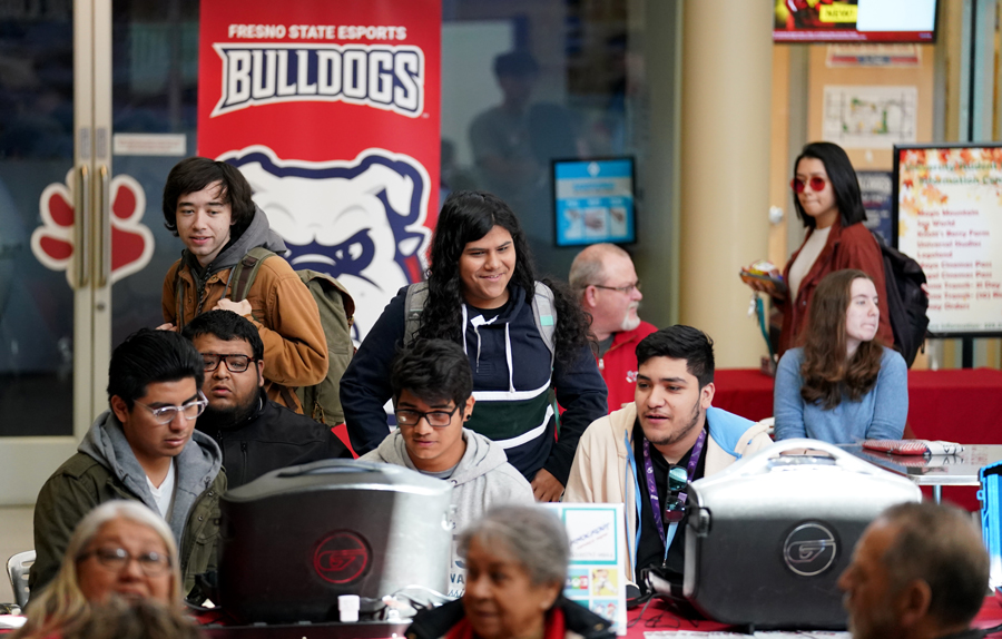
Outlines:
{"label": "blue sweater on the seated woman with long brown hair", "polygon": [[800,396],[804,350],[790,348],[779,360],[773,414],[776,440],[811,438],[832,444],[861,440],[900,440],[908,416],[908,367],[897,351],[884,348],[881,372],[873,389],[858,401],[843,395],[842,402],[825,410],[819,402],[808,404]]}

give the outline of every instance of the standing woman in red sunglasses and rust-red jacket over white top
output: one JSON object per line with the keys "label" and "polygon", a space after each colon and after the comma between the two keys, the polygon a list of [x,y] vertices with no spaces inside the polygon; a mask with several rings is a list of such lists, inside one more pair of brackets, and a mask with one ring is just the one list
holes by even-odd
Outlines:
{"label": "standing woman in red sunglasses and rust-red jacket over white top", "polygon": [[779,356],[800,344],[807,325],[807,309],[818,283],[828,273],[843,268],[858,268],[873,279],[880,293],[877,336],[884,343],[893,344],[881,248],[862,224],[866,212],[848,156],[838,145],[811,142],[800,151],[794,166],[790,181],[794,206],[807,228],[807,237],[786,264],[783,272],[785,287],[780,289],[767,281],[748,284],[772,295],[783,312]]}

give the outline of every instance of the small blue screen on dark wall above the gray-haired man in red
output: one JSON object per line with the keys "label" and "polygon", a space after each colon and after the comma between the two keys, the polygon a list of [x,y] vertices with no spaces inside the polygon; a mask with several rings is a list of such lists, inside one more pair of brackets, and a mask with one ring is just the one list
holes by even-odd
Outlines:
{"label": "small blue screen on dark wall above the gray-haired man in red", "polygon": [[553,160],[557,246],[637,242],[633,158]]}

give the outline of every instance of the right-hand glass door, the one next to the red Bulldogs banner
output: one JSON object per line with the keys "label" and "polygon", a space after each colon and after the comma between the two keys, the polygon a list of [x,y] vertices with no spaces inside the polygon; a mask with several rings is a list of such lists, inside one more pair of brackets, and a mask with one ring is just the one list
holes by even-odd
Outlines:
{"label": "right-hand glass door, the one next to the red Bulldogs banner", "polygon": [[111,4],[111,343],[164,323],[164,276],[183,245],[164,226],[167,174],[195,155],[197,0]]}

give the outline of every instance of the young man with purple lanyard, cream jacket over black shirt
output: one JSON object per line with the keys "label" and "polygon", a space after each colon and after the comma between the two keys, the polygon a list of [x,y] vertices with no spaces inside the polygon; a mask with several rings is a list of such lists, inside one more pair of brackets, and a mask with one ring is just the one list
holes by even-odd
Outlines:
{"label": "young man with purple lanyard, cream jacket over black shirt", "polygon": [[644,586],[641,572],[655,569],[680,583],[687,482],[772,440],[766,426],[710,405],[714,342],[701,331],[651,333],[637,345],[637,361],[633,403],[581,435],[563,501],[626,504],[628,579]]}

